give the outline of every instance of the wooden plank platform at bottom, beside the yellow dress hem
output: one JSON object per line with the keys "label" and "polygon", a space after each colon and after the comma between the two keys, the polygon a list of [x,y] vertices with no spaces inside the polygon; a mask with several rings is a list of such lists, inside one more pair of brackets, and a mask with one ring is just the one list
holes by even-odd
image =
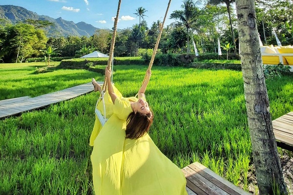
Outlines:
{"label": "wooden plank platform at bottom, beside the yellow dress hem", "polygon": [[188,195],[250,195],[199,162],[182,169]]}

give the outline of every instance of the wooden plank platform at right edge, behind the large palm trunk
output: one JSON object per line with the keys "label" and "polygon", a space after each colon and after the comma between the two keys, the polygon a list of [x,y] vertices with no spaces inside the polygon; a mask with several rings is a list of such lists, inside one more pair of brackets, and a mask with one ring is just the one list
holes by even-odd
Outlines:
{"label": "wooden plank platform at right edge, behind the large palm trunk", "polygon": [[293,151],[293,112],[272,121],[277,146]]}

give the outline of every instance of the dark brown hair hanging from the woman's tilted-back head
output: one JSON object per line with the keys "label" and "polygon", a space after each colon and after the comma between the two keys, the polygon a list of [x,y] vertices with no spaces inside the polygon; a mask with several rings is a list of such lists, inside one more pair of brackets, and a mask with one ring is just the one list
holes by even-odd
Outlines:
{"label": "dark brown hair hanging from the woman's tilted-back head", "polygon": [[148,114],[140,112],[132,112],[127,117],[126,138],[137,139],[143,137],[153,122],[153,113],[150,110]]}

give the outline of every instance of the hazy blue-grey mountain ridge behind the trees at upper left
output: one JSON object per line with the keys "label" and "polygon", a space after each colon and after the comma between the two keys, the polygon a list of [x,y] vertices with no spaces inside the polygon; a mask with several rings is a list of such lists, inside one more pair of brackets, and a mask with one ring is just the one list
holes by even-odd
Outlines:
{"label": "hazy blue-grey mountain ridge behind the trees at upper left", "polygon": [[23,7],[15,5],[0,5],[0,19],[8,20],[15,24],[24,20],[48,20],[54,23],[45,29],[48,37],[67,37],[71,36],[92,36],[98,28],[83,21],[74,23],[73,21],[63,20],[62,18],[53,19],[49,16],[38,15],[36,12],[29,11]]}

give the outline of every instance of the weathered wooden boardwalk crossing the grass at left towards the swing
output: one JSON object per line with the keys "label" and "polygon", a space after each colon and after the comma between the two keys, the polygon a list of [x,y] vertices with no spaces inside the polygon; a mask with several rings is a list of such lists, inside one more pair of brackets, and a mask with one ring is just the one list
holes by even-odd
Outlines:
{"label": "weathered wooden boardwalk crossing the grass at left towards the swing", "polygon": [[[98,82],[103,85],[103,82]],[[68,100],[93,91],[91,82],[63,89],[61,91],[45,94],[35,98],[28,96],[5,99],[0,101],[0,118],[19,115],[23,112],[39,109],[53,103]]]}

